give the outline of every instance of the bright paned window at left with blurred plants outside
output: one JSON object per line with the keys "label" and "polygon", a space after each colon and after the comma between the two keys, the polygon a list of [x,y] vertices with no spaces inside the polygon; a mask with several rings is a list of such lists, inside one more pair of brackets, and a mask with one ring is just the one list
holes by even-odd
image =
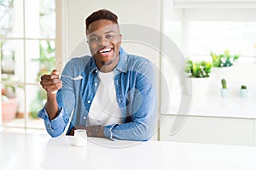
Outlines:
{"label": "bright paned window at left with blurred plants outside", "polygon": [[55,0],[1,0],[0,22],[1,127],[44,129],[39,79],[58,58]]}

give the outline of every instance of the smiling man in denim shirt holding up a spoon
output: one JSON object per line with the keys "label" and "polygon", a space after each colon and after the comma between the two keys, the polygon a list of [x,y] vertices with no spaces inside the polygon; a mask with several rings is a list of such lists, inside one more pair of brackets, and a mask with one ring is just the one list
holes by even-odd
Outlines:
{"label": "smiling man in denim shirt holding up a spoon", "polygon": [[61,77],[54,70],[41,77],[47,102],[38,112],[47,132],[56,137],[67,128],[84,128],[88,136],[148,140],[154,133],[156,93],[154,69],[148,59],[126,54],[120,47],[118,17],[101,9],[86,19],[92,56],[71,59]]}

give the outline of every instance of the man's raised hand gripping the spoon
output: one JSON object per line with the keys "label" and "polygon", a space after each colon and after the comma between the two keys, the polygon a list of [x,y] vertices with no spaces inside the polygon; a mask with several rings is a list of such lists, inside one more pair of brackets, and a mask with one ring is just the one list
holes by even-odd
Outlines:
{"label": "man's raised hand gripping the spoon", "polygon": [[41,77],[40,84],[47,94],[56,94],[61,89],[62,82],[59,75],[59,71],[53,70],[50,75],[43,75]]}

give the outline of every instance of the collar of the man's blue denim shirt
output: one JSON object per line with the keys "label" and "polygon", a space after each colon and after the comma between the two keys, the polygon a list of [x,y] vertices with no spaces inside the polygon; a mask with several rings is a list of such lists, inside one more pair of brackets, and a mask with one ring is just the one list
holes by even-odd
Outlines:
{"label": "collar of the man's blue denim shirt", "polygon": [[[119,48],[119,63],[116,66],[115,70],[118,70],[120,72],[127,72],[128,71],[128,63],[127,63],[127,56],[125,50],[123,48]],[[95,59],[92,57],[91,58],[91,65],[90,65],[90,73],[99,71]]]}

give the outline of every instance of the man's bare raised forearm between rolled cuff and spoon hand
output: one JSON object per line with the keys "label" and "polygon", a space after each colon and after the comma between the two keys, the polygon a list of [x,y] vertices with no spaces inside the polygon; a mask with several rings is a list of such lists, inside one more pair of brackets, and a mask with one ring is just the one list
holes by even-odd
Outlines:
{"label": "man's bare raised forearm between rolled cuff and spoon hand", "polygon": [[45,110],[48,113],[49,120],[53,120],[58,114],[58,103],[56,94],[47,94],[47,102],[45,104]]}

